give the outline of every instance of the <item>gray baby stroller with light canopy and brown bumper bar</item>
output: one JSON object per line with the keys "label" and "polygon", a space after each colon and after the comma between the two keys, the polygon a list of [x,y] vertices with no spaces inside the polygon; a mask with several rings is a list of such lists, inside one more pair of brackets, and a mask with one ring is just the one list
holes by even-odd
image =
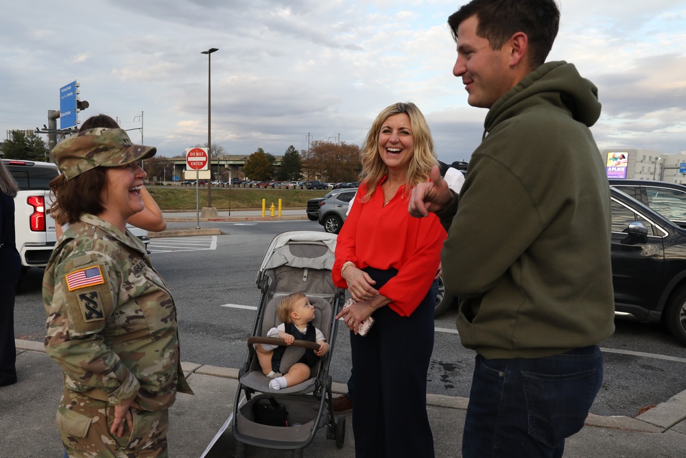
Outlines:
{"label": "gray baby stroller with light canopy and brown bumper bar", "polygon": [[[342,448],[345,440],[345,416],[336,418],[332,408],[329,364],[338,327],[336,314],[343,306],[345,290],[336,288],[331,279],[336,236],[315,231],[290,231],[274,237],[268,247],[259,272],[257,287],[261,292],[257,316],[248,339],[248,354],[239,372],[239,384],[233,407],[233,435],[237,450],[235,457],[243,457],[246,444],[263,448],[293,450],[293,457],[302,457],[303,449],[314,440],[321,427],[327,427],[327,438],[335,439]],[[276,317],[279,300],[294,292],[307,295],[316,309],[312,322],[324,333],[331,347],[312,368],[311,377],[303,383],[272,390],[263,374],[253,344],[281,344],[283,339],[263,337],[281,322]],[[296,340],[287,346],[281,359],[281,372],[295,364],[305,348],[318,344]],[[240,405],[244,396],[243,405]],[[287,410],[288,426],[271,426],[257,422],[255,403],[274,398]],[[273,402],[273,401],[272,401]]]}

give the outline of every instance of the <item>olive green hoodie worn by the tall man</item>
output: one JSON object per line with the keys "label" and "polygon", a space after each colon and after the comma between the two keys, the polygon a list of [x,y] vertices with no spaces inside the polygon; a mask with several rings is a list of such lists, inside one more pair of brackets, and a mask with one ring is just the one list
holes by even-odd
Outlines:
{"label": "olive green hoodie worn by the tall man", "polygon": [[543,64],[490,108],[459,199],[438,214],[462,344],[487,359],[614,331],[610,192],[589,130],[599,116],[598,90],[572,64]]}

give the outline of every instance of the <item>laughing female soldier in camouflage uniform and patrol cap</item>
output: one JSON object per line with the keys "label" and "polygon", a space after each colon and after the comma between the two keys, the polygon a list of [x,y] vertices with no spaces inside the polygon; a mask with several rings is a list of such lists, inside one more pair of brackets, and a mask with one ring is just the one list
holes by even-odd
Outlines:
{"label": "laughing female soldier in camouflage uniform and patrol cap", "polygon": [[43,277],[45,348],[62,367],[57,424],[69,457],[166,457],[167,409],[192,393],[176,307],[126,220],[143,209],[138,161],[154,147],[89,129],[53,151],[51,212],[70,226]]}

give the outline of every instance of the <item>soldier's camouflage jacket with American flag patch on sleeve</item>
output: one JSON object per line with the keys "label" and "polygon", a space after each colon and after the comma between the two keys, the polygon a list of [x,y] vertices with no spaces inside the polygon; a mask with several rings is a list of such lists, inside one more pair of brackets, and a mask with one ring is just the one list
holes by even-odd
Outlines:
{"label": "soldier's camouflage jacket with American flag patch on sleeve", "polygon": [[90,214],[64,232],[43,276],[45,349],[70,390],[145,410],[192,391],[174,299],[143,243]]}

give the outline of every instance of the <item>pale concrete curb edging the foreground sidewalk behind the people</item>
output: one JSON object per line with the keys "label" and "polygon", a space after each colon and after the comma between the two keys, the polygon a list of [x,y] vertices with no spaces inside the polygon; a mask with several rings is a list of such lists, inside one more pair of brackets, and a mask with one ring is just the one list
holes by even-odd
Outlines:
{"label": "pale concrete curb edging the foreground sidewalk behind the people", "polygon": [[[17,350],[21,350],[20,353],[23,353],[24,351],[45,353],[43,342],[15,339],[14,344],[16,345]],[[237,380],[239,374],[237,368],[224,368],[191,362],[182,362],[181,369],[187,377],[192,374],[199,374]],[[346,383],[333,382],[331,384],[331,391],[335,394],[344,394],[347,390],[348,387]],[[431,405],[433,407],[443,407],[445,409],[466,410],[468,403],[469,398],[446,396],[444,394],[427,394],[427,406]],[[636,418],[589,414],[584,424],[589,427],[621,429],[624,431],[637,431],[642,433],[664,433],[665,431],[674,428],[674,432],[686,434],[686,422],[684,422],[684,420],[686,420],[685,407],[686,390],[676,394],[676,396],[672,396],[672,398],[664,403],[653,407]]]}

